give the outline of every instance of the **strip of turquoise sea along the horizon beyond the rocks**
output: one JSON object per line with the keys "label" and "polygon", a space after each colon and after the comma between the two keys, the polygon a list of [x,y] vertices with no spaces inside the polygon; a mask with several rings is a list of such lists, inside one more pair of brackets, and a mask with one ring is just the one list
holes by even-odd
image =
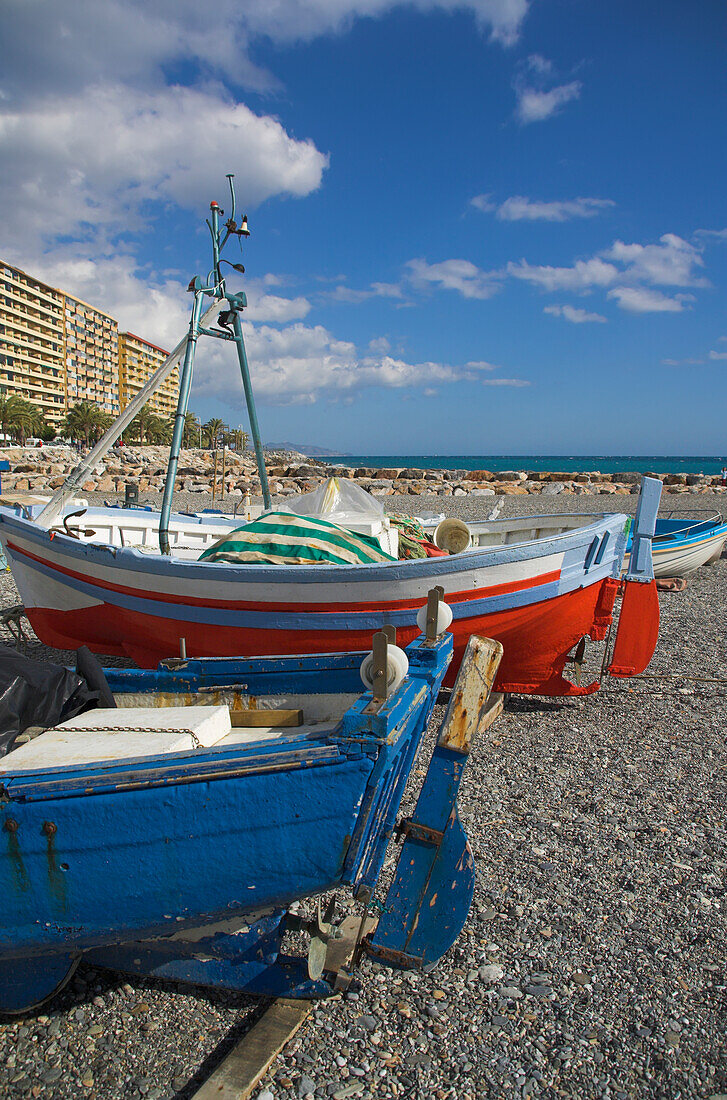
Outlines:
{"label": "strip of turquoise sea along the horizon beyond the rocks", "polygon": [[340,466],[388,466],[415,470],[558,471],[562,473],[718,474],[724,454],[339,454],[316,457]]}

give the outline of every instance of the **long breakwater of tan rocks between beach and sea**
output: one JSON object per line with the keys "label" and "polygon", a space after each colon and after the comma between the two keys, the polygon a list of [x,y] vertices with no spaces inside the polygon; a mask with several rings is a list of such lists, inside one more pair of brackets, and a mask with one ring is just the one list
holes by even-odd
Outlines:
{"label": "long breakwater of tan rocks between beach and sea", "polygon": [[[2,475],[3,492],[48,493],[63,485],[79,462],[78,454],[67,447],[7,448],[0,458],[10,462],[10,473]],[[79,492],[123,494],[126,484],[140,493],[161,492],[164,487],[168,448],[124,447],[114,450],[99,463],[79,486]],[[524,496],[540,494],[557,496],[609,496],[637,493],[640,473],[607,474],[598,471],[565,473],[559,471],[504,470],[419,470],[417,468],[330,466],[306,461],[304,455],[286,451],[266,451],[265,465],[274,496],[293,496],[317,488],[335,474],[357,482],[374,496]],[[725,491],[716,474],[660,474],[667,493],[711,493]],[[184,450],[179,457],[177,488],[187,493],[211,493],[242,496],[260,493],[260,480],[254,455],[218,452],[217,462],[210,451]]]}

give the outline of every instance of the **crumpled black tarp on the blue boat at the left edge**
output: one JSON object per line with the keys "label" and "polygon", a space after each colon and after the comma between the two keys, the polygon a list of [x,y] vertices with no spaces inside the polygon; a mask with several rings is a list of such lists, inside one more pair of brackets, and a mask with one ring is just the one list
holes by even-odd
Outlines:
{"label": "crumpled black tarp on the blue boat at the left edge", "polygon": [[99,694],[99,685],[78,672],[23,657],[0,642],[0,757],[29,726],[49,728],[75,718],[98,706]]}

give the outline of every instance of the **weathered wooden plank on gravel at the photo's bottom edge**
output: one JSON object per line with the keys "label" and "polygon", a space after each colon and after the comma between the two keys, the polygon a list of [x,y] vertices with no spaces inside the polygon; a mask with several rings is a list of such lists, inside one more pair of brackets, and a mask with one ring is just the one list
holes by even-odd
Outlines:
{"label": "weathered wooden plank on gravel at the photo's bottom edge", "polygon": [[246,1100],[311,1010],[311,1001],[273,1001],[190,1100]]}

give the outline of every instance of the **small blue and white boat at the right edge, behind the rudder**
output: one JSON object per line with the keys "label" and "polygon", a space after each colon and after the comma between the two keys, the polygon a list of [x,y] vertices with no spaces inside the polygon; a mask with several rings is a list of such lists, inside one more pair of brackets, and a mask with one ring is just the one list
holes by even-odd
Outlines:
{"label": "small blue and white boat at the right edge, behind the rudder", "polygon": [[[651,540],[654,576],[687,576],[701,565],[716,561],[725,549],[727,524],[718,512],[694,512],[691,516],[671,513],[657,518]],[[629,539],[628,551],[631,543]],[[624,560],[628,568],[628,554]]]}

